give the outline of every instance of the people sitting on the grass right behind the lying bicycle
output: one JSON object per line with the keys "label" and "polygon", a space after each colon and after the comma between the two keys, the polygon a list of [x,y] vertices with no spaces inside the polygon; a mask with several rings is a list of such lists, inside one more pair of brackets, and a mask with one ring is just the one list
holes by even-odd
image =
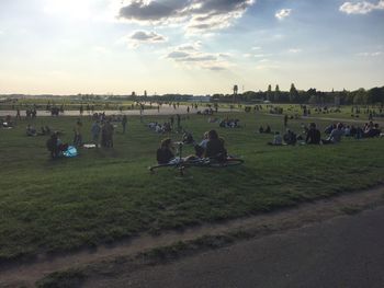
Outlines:
{"label": "people sitting on the grass right behind the lying bicycle", "polygon": [[[204,134],[204,138],[200,143],[192,142],[195,154],[184,158],[210,158],[216,161],[225,161],[227,159],[227,150],[224,147],[224,139],[221,138],[216,130],[210,130]],[[161,141],[160,148],[157,149],[156,159],[159,164],[167,164],[176,159],[174,147],[172,140],[167,138]]]}

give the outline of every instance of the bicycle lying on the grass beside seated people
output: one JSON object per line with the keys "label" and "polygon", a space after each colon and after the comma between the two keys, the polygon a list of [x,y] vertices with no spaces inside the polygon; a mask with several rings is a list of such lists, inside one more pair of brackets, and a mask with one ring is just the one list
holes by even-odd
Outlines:
{"label": "bicycle lying on the grass beside seated people", "polygon": [[180,175],[184,175],[184,170],[187,168],[197,166],[197,168],[228,168],[237,166],[242,164],[245,161],[239,158],[227,157],[225,160],[217,160],[215,158],[182,158],[182,147],[183,142],[176,142],[179,146],[179,157],[174,158],[167,164],[158,164],[150,166],[150,173],[155,173],[156,170],[161,168],[176,168],[179,170]]}

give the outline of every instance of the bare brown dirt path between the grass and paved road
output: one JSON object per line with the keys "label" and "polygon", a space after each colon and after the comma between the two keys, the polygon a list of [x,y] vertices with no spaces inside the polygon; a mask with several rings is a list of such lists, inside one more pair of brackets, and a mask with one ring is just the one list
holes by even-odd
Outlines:
{"label": "bare brown dirt path between the grass and paved road", "polygon": [[39,255],[33,263],[20,263],[0,267],[0,287],[33,287],[34,283],[47,274],[131,255],[157,246],[170,245],[177,241],[193,240],[207,234],[221,234],[236,230],[264,230],[266,226],[273,231],[297,228],[307,223],[323,221],[350,211],[362,210],[384,205],[384,186],[370,191],[340,195],[329,199],[302,204],[294,208],[241,218],[226,222],[203,224],[184,231],[165,231],[158,237],[143,234],[140,237],[115,243],[113,246],[99,246],[95,250],[83,250],[66,255]]}

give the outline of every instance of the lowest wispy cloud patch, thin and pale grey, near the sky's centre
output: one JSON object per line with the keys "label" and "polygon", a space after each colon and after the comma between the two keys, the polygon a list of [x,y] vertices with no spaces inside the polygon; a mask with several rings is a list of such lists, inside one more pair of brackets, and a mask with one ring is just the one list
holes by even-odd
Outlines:
{"label": "lowest wispy cloud patch, thin and pale grey, near the sky's centre", "polygon": [[167,59],[173,60],[176,64],[188,68],[201,68],[214,71],[226,70],[230,64],[228,59],[231,58],[229,54],[213,54],[202,50],[200,44],[184,44],[173,47],[167,55]]}

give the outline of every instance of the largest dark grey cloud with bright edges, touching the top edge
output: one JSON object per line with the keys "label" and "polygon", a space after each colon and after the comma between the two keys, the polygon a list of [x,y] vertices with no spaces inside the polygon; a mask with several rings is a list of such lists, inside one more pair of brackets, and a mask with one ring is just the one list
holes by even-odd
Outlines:
{"label": "largest dark grey cloud with bright edges, touching the top edge", "polygon": [[230,26],[256,0],[127,0],[118,19],[140,24],[184,24],[190,33]]}

